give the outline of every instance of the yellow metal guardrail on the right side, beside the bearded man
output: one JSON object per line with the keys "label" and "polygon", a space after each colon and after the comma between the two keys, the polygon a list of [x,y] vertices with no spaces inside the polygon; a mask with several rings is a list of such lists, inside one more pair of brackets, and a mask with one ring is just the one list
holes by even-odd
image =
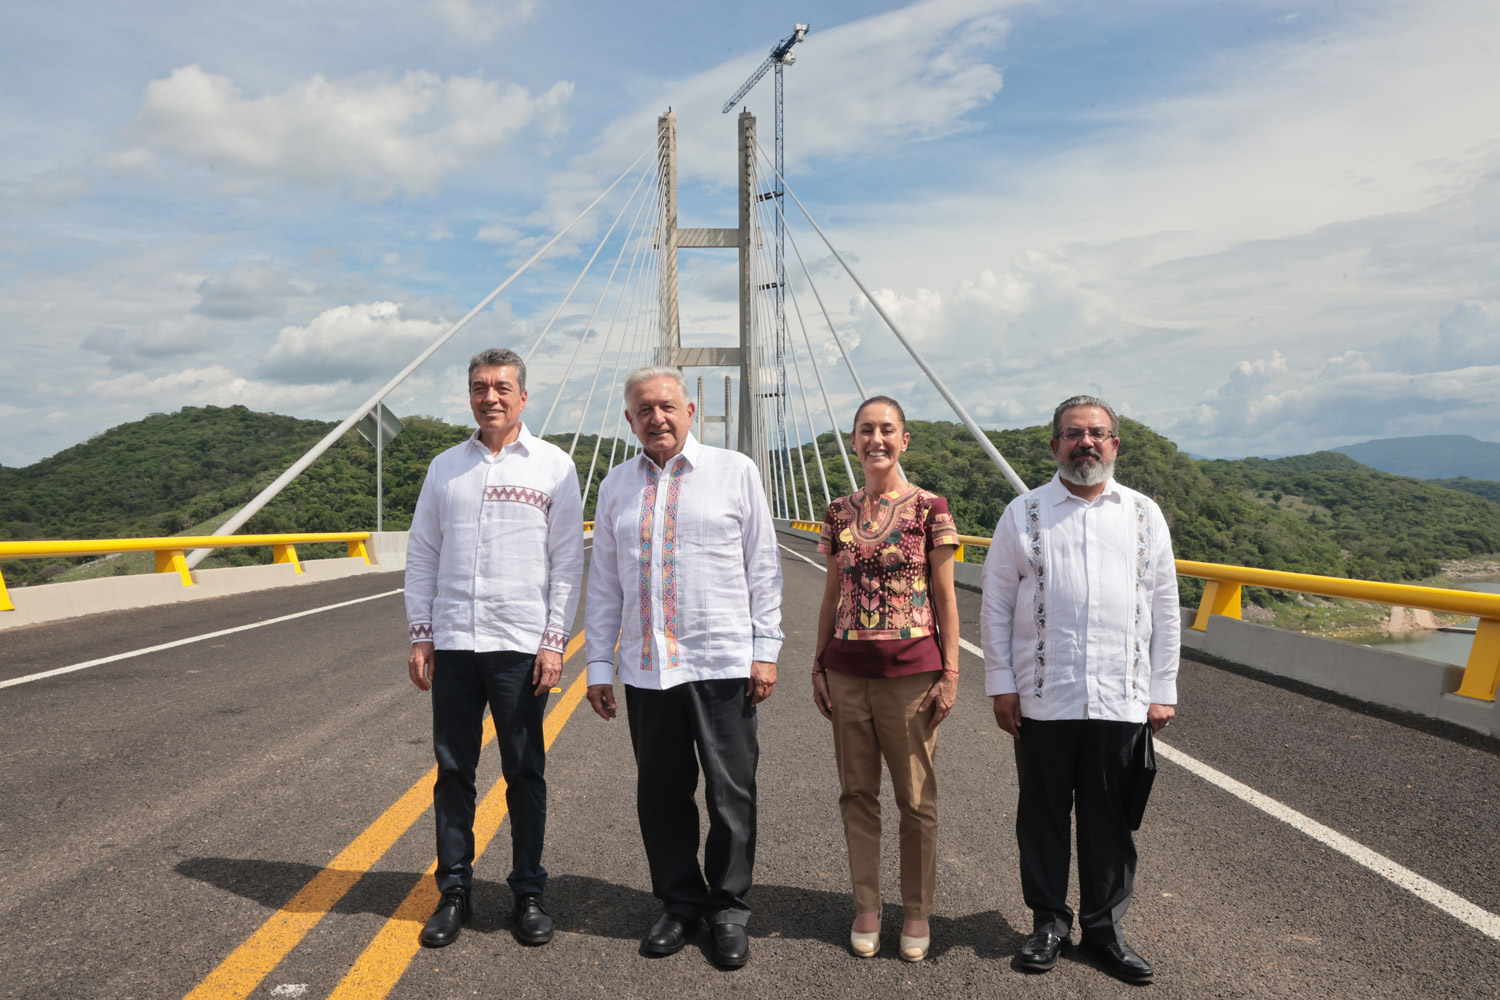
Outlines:
{"label": "yellow metal guardrail on the right side, beside the bearded man", "polygon": [[[966,546],[988,547],[988,538],[958,535]],[[958,552],[963,552],[960,546]],[[1468,663],[1456,694],[1494,702],[1500,690],[1500,594],[1476,594],[1473,591],[1448,591],[1437,586],[1412,586],[1408,583],[1378,583],[1374,580],[1346,580],[1336,576],[1312,576],[1310,573],[1282,573],[1280,570],[1256,570],[1221,562],[1194,562],[1178,559],[1178,576],[1206,580],[1198,613],[1192,628],[1208,631],[1209,616],[1239,618],[1240,591],[1246,586],[1264,586],[1275,591],[1298,591],[1318,597],[1344,597],[1371,604],[1395,604],[1420,607],[1430,612],[1473,615],[1479,619],[1474,643],[1468,648]]]}

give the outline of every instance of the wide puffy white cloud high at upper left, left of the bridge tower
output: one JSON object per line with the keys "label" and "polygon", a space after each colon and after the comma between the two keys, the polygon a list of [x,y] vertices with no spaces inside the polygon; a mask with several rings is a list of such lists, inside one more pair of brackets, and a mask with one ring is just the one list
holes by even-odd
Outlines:
{"label": "wide puffy white cloud high at upper left, left of the bridge tower", "polygon": [[561,127],[573,84],[540,94],[474,76],[368,73],[312,76],[246,97],[228,76],[183,66],[147,84],[111,159],[141,169],[158,159],[207,168],[231,190],[274,183],[346,187],[362,196],[429,193],[453,171],[483,162],[531,124]]}

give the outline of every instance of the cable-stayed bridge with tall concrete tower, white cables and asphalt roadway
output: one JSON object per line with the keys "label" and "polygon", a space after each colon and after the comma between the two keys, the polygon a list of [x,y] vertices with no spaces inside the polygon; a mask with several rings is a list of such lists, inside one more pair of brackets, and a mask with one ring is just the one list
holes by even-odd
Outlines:
{"label": "cable-stayed bridge with tall concrete tower, white cables and asphalt roadway", "polygon": [[[584,331],[594,331],[592,339],[579,337],[564,351],[567,367],[552,384],[532,385],[528,423],[538,433],[572,430],[574,447],[594,436],[590,490],[603,469],[633,454],[633,445],[621,444],[618,454],[598,447],[624,438],[626,372],[644,363],[728,369],[734,375],[723,411],[700,408],[700,417],[724,423],[705,421],[699,433],[711,444],[730,435],[732,447],[756,459],[782,519],[788,643],[780,684],[760,717],[750,966],[722,973],[694,949],[662,961],[638,954],[656,901],[630,792],[634,765],[622,724],[578,711],[578,636],[546,733],[544,861],[556,940],[524,949],[510,939],[504,784],[490,751],[477,822],[490,852],[477,862],[476,919],[453,948],[418,949],[417,930],[434,904],[426,874],[430,721],[404,669],[400,544],[387,532],[363,549],[374,565],[352,555],[302,567],[296,543],[284,541],[284,565],[194,573],[192,556],[166,549],[171,555],[165,564],[158,556],[158,565],[176,576],[128,585],[140,600],[118,597],[118,585],[84,588],[72,594],[82,594],[86,606],[72,610],[94,613],[4,628],[4,615],[34,603],[32,594],[12,592],[20,610],[0,612],[0,883],[8,889],[0,996],[1094,997],[1132,990],[1083,957],[1041,978],[1010,964],[1029,913],[1016,874],[1014,765],[982,697],[972,589],[960,591],[958,706],[939,732],[933,955],[908,966],[890,948],[872,961],[848,954],[850,900],[832,742],[806,676],[824,570],[798,522],[819,517],[830,475],[856,481],[848,456],[828,469],[807,442],[828,430],[842,439],[852,412],[836,400],[849,399],[850,388],[864,396],[882,387],[874,373],[867,379],[855,370],[844,331],[807,267],[804,253],[822,237],[812,213],[784,178],[790,210],[807,228],[792,225],[789,205],[768,196],[774,166],[754,139],[754,118],[738,118],[735,228],[678,225],[675,129],[664,114],[650,148],[579,219],[321,447],[375,409],[591,211],[602,213],[594,231],[603,235],[585,247],[585,267],[532,343],[518,345],[536,355],[548,337],[560,337],[570,306],[588,309]],[[778,217],[792,250],[794,277],[784,285],[765,238]],[[738,253],[734,342],[684,343],[681,249]],[[832,244],[825,249],[843,264]],[[864,289],[858,274],[846,273]],[[777,295],[792,306],[784,339]],[[906,343],[896,324],[890,330]],[[1022,489],[939,373],[915,352],[912,364],[932,376]],[[572,427],[554,424],[562,414],[572,414]],[[306,468],[321,447],[278,483]],[[236,532],[274,489],[224,532]],[[300,568],[308,571],[294,577]],[[1347,688],[1317,684],[1311,673],[1257,660],[1254,646],[1292,640],[1234,621],[1240,582],[1228,570],[1203,570],[1220,573],[1204,597],[1204,616],[1220,618],[1206,633],[1190,633],[1180,714],[1162,741],[1166,765],[1138,835],[1142,865],[1126,928],[1156,966],[1152,990],[1180,997],[1500,996],[1500,745],[1454,724],[1478,720],[1473,730],[1494,718],[1484,624],[1467,672],[1335,651],[1336,643],[1270,651],[1269,660],[1304,657],[1353,678]],[[303,583],[240,594],[231,583],[276,574]],[[218,588],[224,597],[170,604],[150,597],[183,583]],[[1317,592],[1329,585],[1305,586]],[[105,600],[106,592],[116,597]],[[99,595],[93,607],[88,595]],[[1485,607],[1476,613],[1491,621]],[[1432,681],[1438,708],[1410,696],[1402,709],[1400,691],[1382,702],[1383,682],[1371,678],[1383,676],[1396,678],[1392,688],[1401,679]],[[1464,684],[1474,693],[1460,694]],[[1342,696],[1323,690],[1330,687]],[[1450,702],[1455,708],[1442,708]],[[894,837],[886,847],[886,877],[894,880]],[[894,934],[898,907],[886,910]]]}

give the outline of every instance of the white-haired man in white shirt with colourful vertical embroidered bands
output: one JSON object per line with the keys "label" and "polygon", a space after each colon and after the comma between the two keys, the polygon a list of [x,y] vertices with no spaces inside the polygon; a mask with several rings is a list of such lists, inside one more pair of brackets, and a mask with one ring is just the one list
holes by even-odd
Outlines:
{"label": "white-haired man in white shirt with colourful vertical embroidered bands", "polygon": [[[750,955],[756,705],[776,687],[782,559],[750,459],[699,444],[682,373],[626,378],[642,454],[598,487],[585,634],[588,702],[615,717],[615,640],[636,754],[636,814],[663,915],[642,948],[680,951],[700,921],[712,960]],[[694,754],[696,747],[696,754]],[[698,762],[708,840],[698,865]]]}

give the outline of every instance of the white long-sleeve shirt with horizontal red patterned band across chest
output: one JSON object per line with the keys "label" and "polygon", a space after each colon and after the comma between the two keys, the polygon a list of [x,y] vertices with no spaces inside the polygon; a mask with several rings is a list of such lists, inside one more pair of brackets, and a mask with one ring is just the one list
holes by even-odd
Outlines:
{"label": "white long-sleeve shirt with horizontal red patterned band across chest", "polygon": [[411,642],[562,651],[584,582],[578,469],[526,426],[500,454],[476,432],[428,466],[406,535]]}

